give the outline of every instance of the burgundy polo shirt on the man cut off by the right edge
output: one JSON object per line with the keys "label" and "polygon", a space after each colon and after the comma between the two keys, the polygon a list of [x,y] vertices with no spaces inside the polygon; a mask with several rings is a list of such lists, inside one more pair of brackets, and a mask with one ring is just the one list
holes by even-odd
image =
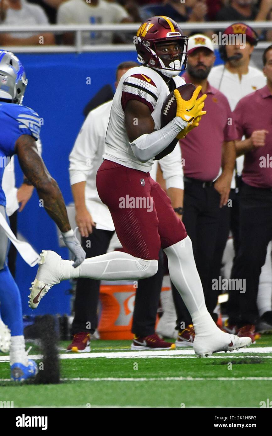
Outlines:
{"label": "burgundy polo shirt on the man cut off by the right edge", "polygon": [[254,187],[272,187],[272,94],[268,86],[241,99],[234,118],[239,139],[249,138],[254,130],[268,130],[265,145],[244,154],[242,179]]}

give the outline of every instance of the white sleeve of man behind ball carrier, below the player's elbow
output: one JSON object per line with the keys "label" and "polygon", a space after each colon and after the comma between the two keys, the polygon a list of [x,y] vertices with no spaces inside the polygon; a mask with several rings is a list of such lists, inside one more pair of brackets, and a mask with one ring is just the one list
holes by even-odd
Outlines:
{"label": "white sleeve of man behind ball carrier, below the player's elbow", "polygon": [[177,143],[172,153],[169,153],[167,156],[159,160],[159,164],[162,168],[162,176],[165,179],[166,189],[184,189],[183,168],[179,143]]}

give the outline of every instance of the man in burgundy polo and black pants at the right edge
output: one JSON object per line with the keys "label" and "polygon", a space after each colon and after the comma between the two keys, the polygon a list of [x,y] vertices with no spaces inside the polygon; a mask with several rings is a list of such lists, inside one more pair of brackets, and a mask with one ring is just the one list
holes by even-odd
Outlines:
{"label": "man in burgundy polo and black pants at the right edge", "polygon": [[[266,249],[272,239],[272,45],[263,54],[264,88],[240,100],[234,110],[238,136],[237,156],[244,154],[240,204],[241,246],[233,266],[233,278],[245,279],[245,293],[232,291],[229,324],[255,326],[257,293]],[[272,312],[266,312],[272,324]]]}

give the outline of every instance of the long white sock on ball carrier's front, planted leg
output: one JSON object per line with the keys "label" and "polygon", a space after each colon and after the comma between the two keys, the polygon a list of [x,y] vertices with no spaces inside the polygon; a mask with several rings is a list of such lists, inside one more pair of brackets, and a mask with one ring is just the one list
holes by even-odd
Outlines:
{"label": "long white sock on ball carrier's front, planted leg", "polygon": [[196,334],[219,330],[207,310],[189,236],[164,249],[169,275],[192,317]]}

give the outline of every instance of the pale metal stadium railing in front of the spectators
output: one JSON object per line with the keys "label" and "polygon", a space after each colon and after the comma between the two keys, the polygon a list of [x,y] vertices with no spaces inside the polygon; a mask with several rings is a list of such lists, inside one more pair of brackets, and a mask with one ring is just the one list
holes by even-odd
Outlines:
{"label": "pale metal stadium railing in front of the spectators", "polygon": [[[272,29],[272,21],[247,21],[249,26],[254,29],[268,30]],[[204,22],[204,23],[181,23],[182,30],[194,29],[196,31],[203,30],[214,30],[222,31],[227,26],[231,25],[230,21],[217,21],[217,22]],[[75,32],[75,43],[73,45],[43,45],[39,44],[36,46],[8,46],[10,51],[16,51],[17,53],[67,53],[75,52],[82,53],[84,51],[129,51],[134,50],[134,44],[93,44],[86,45],[83,43],[82,33],[86,31],[92,32],[135,32],[138,30],[139,24],[46,24],[46,25],[33,25],[33,26],[0,26],[0,33],[11,33],[11,32],[35,32],[37,34],[41,32],[51,32],[54,34],[62,34],[65,32]],[[260,41],[257,50],[264,50],[272,44],[272,41]]]}

